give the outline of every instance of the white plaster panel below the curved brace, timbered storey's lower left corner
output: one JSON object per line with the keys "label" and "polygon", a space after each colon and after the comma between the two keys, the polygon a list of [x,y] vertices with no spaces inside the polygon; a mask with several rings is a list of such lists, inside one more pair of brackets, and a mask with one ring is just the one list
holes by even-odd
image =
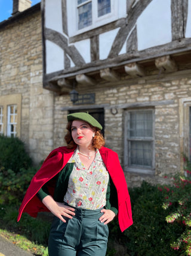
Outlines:
{"label": "white plaster panel below the curved brace, timbered storey's lower left corner", "polygon": [[46,40],[47,74],[64,69],[64,51],[56,44]]}

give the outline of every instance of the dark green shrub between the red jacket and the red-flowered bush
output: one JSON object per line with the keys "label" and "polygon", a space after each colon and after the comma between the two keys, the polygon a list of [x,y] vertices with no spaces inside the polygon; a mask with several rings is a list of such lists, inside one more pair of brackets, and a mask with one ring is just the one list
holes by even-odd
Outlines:
{"label": "dark green shrub between the red jacket and the red-flowered bush", "polygon": [[157,186],[143,182],[140,188],[129,189],[134,224],[121,233],[115,221],[109,225],[110,239],[124,245],[128,255],[180,255],[170,244],[177,239],[181,228],[165,221],[161,191]]}

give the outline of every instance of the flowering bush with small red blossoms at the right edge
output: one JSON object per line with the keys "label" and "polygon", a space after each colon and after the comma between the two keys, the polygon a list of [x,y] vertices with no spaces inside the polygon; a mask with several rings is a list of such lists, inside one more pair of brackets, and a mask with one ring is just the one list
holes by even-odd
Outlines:
{"label": "flowering bush with small red blossoms at the right edge", "polygon": [[160,186],[164,194],[163,209],[169,210],[166,221],[177,222],[182,230],[177,240],[171,243],[171,248],[180,251],[180,255],[191,255],[191,164],[184,156],[184,174],[172,177],[173,185]]}

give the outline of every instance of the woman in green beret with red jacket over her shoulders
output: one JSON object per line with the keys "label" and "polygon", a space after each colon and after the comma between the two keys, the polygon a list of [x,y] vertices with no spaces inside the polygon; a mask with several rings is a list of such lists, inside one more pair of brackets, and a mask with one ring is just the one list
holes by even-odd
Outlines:
{"label": "woman in green beret with red jacket over her shoulders", "polygon": [[125,176],[93,116],[73,113],[67,121],[67,147],[54,149],[33,177],[18,221],[22,212],[53,213],[50,256],[106,255],[107,224],[116,215],[121,231],[133,224]]}

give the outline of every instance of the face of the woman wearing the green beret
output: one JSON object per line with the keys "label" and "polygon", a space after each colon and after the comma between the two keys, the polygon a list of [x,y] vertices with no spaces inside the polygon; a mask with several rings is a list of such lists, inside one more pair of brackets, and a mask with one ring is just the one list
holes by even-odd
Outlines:
{"label": "face of the woman wearing the green beret", "polygon": [[72,122],[72,138],[79,146],[90,146],[93,140],[94,129],[85,121],[74,120]]}

